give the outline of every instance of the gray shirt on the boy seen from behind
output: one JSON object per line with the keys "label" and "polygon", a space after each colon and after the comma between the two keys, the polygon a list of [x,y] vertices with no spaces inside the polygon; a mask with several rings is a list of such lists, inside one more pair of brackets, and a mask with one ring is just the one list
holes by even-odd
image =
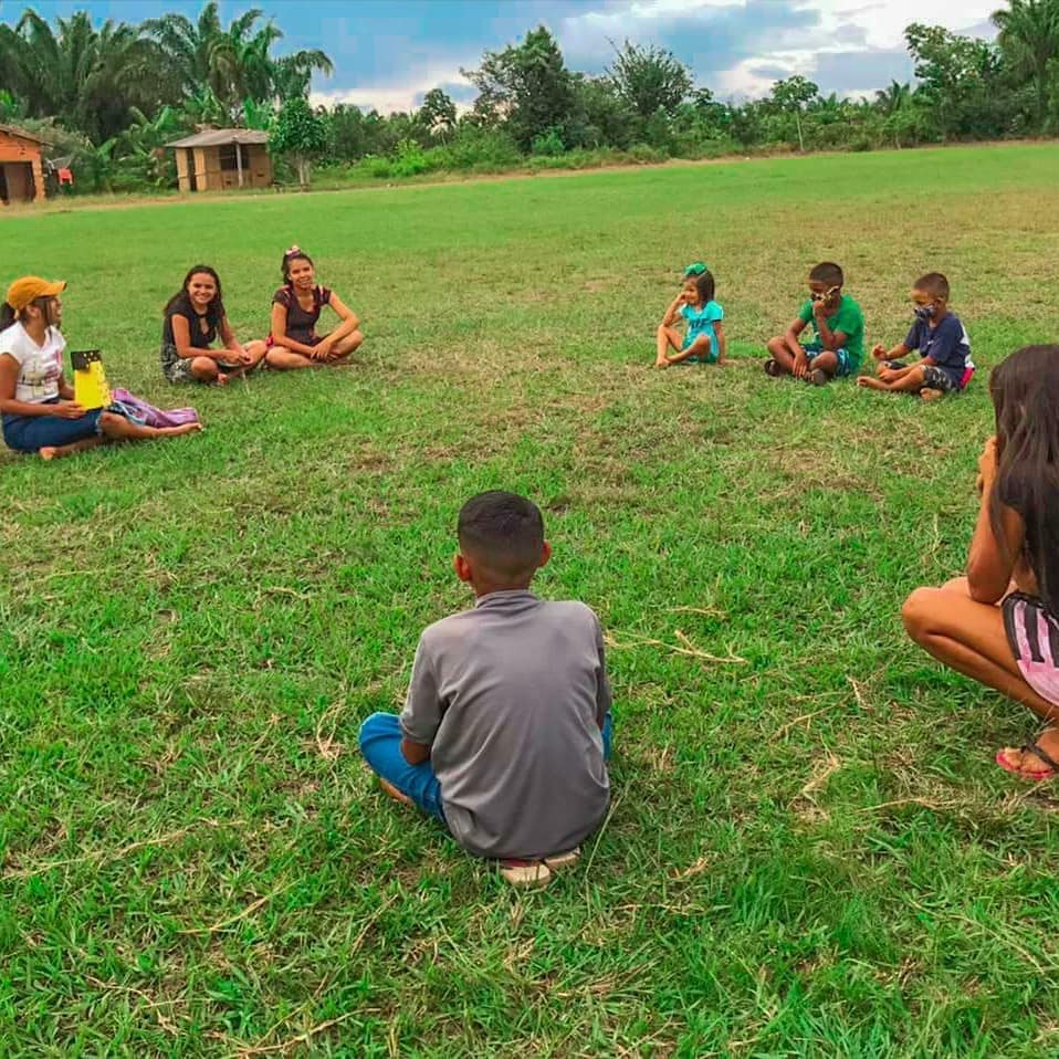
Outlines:
{"label": "gray shirt on the boy seen from behind", "polygon": [[430,745],[461,846],[538,858],[576,846],[607,811],[609,711],[593,610],[501,591],[423,632],[401,730]]}

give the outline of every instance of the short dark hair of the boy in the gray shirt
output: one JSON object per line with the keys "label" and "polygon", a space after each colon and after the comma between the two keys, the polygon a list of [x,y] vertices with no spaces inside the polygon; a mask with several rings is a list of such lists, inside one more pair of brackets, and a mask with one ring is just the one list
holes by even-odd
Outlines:
{"label": "short dark hair of the boy in the gray shirt", "polygon": [[525,496],[490,490],[472,496],[457,524],[460,547],[496,574],[516,578],[532,573],[544,548],[544,517]]}

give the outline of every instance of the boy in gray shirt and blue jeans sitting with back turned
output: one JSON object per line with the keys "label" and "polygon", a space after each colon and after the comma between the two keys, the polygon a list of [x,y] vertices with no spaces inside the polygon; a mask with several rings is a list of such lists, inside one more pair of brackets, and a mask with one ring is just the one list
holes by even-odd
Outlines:
{"label": "boy in gray shirt and blue jeans sitting with back turned", "polygon": [[500,861],[508,882],[545,883],[610,801],[602,628],[585,604],[530,591],[552,557],[536,504],[480,493],[457,534],[474,608],[422,633],[405,710],[368,717],[360,751],[390,797]]}

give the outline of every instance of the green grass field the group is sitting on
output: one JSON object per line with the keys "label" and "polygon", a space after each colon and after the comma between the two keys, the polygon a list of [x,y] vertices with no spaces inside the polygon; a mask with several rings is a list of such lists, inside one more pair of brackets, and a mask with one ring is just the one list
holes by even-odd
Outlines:
{"label": "green grass field the group is sitting on", "polygon": [[[1059,799],[993,764],[1032,722],[899,617],[963,565],[987,369],[1059,338],[1057,177],[1029,146],[0,219],[4,284],[69,280],[72,345],[208,424],[0,457],[0,1053],[1059,1053]],[[261,337],[295,241],[358,366],[167,387],[186,269]],[[652,371],[696,258],[741,363]],[[969,391],[767,379],[828,258],[869,343],[946,272]],[[469,604],[490,487],[611,638],[612,811],[537,893],[356,748]]]}

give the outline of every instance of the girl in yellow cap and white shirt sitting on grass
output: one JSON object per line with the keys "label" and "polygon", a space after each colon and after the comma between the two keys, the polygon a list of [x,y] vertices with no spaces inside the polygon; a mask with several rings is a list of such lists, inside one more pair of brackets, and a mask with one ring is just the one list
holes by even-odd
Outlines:
{"label": "girl in yellow cap and white shirt sitting on grass", "polygon": [[73,399],[63,374],[66,339],[59,329],[65,287],[62,281],[23,276],[0,306],[0,421],[8,448],[54,460],[104,441],[201,430],[199,423],[144,427],[102,408],[87,411]]}

